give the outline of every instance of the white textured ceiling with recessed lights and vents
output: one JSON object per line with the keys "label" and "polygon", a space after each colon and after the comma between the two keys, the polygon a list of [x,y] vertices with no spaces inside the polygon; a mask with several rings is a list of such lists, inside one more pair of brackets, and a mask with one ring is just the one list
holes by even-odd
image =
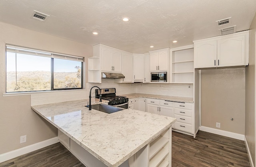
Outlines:
{"label": "white textured ceiling with recessed lights and vents", "polygon": [[[31,19],[34,10],[50,17]],[[218,36],[215,21],[229,17],[225,27],[248,30],[255,12],[256,0],[0,0],[0,22],[132,53]],[[123,17],[130,21],[122,22]]]}

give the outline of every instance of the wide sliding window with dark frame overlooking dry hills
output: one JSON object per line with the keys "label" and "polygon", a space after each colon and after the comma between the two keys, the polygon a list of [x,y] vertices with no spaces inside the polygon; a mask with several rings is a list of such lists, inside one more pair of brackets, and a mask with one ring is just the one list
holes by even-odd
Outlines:
{"label": "wide sliding window with dark frame overlooking dry hills", "polygon": [[6,45],[6,92],[82,88],[82,57]]}

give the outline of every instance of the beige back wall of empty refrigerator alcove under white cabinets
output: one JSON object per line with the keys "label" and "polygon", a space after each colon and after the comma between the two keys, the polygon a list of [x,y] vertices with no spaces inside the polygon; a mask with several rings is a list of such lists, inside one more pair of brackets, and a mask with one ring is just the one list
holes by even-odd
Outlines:
{"label": "beige back wall of empty refrigerator alcove under white cabinets", "polygon": [[244,116],[245,68],[202,70],[201,126],[244,134]]}

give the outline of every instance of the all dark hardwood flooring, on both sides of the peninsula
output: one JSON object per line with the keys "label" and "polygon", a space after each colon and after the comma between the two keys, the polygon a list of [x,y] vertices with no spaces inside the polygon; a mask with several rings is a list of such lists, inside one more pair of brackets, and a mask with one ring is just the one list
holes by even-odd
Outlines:
{"label": "all dark hardwood flooring, on both sides of the peninsula", "polygon": [[[0,167],[84,167],[61,143],[0,163]],[[244,141],[199,131],[173,132],[172,167],[250,167]]]}

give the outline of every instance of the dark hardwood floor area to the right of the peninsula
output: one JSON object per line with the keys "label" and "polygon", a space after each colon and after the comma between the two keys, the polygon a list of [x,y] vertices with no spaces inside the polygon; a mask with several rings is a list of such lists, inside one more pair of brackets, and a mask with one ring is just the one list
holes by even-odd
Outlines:
{"label": "dark hardwood floor area to the right of the peninsula", "polygon": [[250,167],[244,141],[199,131],[173,132],[172,167]]}

